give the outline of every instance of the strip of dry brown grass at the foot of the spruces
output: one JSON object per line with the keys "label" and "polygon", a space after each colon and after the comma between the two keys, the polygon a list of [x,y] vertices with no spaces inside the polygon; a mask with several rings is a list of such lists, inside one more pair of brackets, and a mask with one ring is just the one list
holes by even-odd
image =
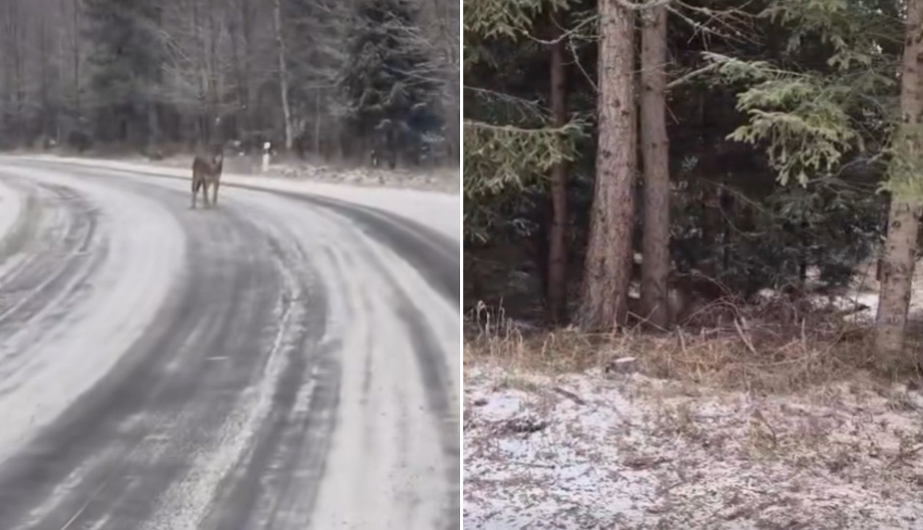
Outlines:
{"label": "strip of dry brown grass at the foot of the spruces", "polygon": [[721,300],[657,333],[640,326],[619,334],[523,329],[485,306],[466,320],[466,367],[488,362],[514,372],[561,373],[630,357],[636,370],[653,377],[759,393],[796,392],[857,373],[915,373],[912,356],[888,364],[871,356],[868,325],[789,300],[759,306]]}

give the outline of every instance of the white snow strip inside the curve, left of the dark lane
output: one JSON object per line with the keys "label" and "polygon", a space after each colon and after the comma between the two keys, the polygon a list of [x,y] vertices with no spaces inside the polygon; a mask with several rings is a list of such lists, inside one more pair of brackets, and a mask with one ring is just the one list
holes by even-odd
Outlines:
{"label": "white snow strip inside the curve, left of the dark lane", "polygon": [[[94,220],[84,198],[67,189],[69,183],[67,178],[41,180],[42,188],[68,199],[58,204],[39,201],[38,209],[44,211],[37,215],[49,219],[45,226],[59,233],[36,231],[23,241],[20,253],[36,253],[7,271],[18,282],[4,281],[0,288],[13,300],[5,312],[10,325],[0,325],[0,343],[6,348],[0,358],[5,390],[0,395],[5,416],[0,461],[35,430],[51,424],[114,365],[159,308],[166,290],[162,286],[182,258],[177,245],[183,236],[175,225],[138,225],[136,235],[150,236],[144,244],[128,234],[111,233],[113,222],[132,225],[156,215],[155,204],[116,207],[111,217]],[[113,198],[102,188],[90,194]],[[113,237],[97,237],[103,233]],[[50,239],[42,241],[46,237]],[[62,246],[55,249],[54,244]],[[129,256],[139,259],[140,266],[126,270]],[[148,292],[147,287],[156,290]],[[4,506],[0,513],[6,511]]]}

